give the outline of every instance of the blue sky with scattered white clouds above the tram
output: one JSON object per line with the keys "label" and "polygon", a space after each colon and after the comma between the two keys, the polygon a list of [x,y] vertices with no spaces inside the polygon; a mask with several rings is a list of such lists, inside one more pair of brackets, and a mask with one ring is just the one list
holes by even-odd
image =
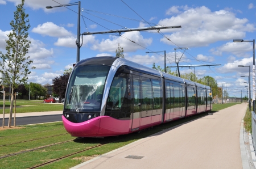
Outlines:
{"label": "blue sky with scattered white clouds above the tram", "polygon": [[[76,63],[78,6],[46,6],[75,3],[70,0],[25,0],[24,9],[30,20],[28,39],[31,41],[27,56],[33,61],[28,82],[52,84],[52,79]],[[21,0],[0,0],[0,51],[6,53],[7,35],[11,31],[16,5]],[[228,90],[230,96],[246,95],[249,67],[253,69],[253,43],[233,43],[233,39],[252,41],[256,31],[255,1],[167,1],[167,0],[110,0],[81,1],[80,29],[100,32],[161,26],[181,28],[157,31],[110,33],[80,37],[80,60],[97,56],[115,56],[118,44],[127,60],[144,66],[164,67],[164,53],[146,53],[166,50],[166,65],[176,66],[176,58],[183,65],[221,65],[195,67],[198,78],[209,75],[218,86]],[[184,52],[184,54],[183,54]],[[183,55],[182,55],[183,54]],[[175,71],[176,68],[171,68]],[[180,69],[180,73],[194,68]],[[252,77],[252,75],[251,75]],[[251,88],[252,88],[251,78]],[[248,87],[245,87],[248,86]],[[252,94],[252,90],[251,90]],[[248,95],[249,96],[249,95]],[[252,98],[252,96],[251,96]]]}

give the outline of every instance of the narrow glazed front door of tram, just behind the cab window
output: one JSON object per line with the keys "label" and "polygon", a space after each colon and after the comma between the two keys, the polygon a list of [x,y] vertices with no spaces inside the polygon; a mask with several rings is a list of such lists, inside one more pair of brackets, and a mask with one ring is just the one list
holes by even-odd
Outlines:
{"label": "narrow glazed front door of tram, just behind the cab window", "polygon": [[141,124],[141,82],[139,80],[139,76],[133,75],[133,123],[131,125],[131,130],[139,129],[139,125]]}

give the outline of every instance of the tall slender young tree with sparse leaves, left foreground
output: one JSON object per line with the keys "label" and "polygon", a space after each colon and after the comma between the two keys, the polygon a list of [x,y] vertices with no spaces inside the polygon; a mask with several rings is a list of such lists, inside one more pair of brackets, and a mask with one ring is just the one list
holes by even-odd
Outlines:
{"label": "tall slender young tree with sparse leaves, left foreground", "polygon": [[[29,56],[26,57],[31,43],[31,41],[27,40],[30,24],[29,19],[27,19],[28,14],[25,13],[23,6],[24,0],[16,6],[16,11],[14,12],[15,21],[12,20],[10,23],[12,31],[7,35],[9,37],[6,40],[7,53],[3,54],[0,52],[2,59],[0,61],[0,67],[2,67],[0,73],[5,75],[5,78],[1,79],[3,80],[3,84],[7,86],[11,84],[9,128],[13,116],[14,89],[18,87],[18,84],[26,83],[28,79],[27,75],[31,73],[28,66],[32,61],[29,60]],[[35,69],[35,67],[31,67],[31,69]]]}

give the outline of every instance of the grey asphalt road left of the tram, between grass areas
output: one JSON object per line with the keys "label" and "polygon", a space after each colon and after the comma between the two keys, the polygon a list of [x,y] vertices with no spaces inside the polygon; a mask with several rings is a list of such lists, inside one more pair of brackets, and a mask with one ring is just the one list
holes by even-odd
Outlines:
{"label": "grey asphalt road left of the tram, between grass areas", "polygon": [[[46,116],[30,116],[30,117],[16,117],[16,125],[38,124],[44,122],[61,121],[62,115],[46,115]],[[9,118],[5,118],[5,125],[8,125]],[[13,125],[14,118],[11,120]],[[3,125],[3,119],[0,119],[0,126]]]}

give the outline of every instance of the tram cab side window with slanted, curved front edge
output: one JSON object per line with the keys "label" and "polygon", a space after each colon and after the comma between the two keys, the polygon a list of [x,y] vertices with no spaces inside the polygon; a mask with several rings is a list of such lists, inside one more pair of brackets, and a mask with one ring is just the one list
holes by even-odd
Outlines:
{"label": "tram cab side window with slanted, curved front edge", "polygon": [[127,75],[124,73],[117,73],[113,79],[108,101],[107,109],[120,110],[121,107],[126,107],[127,96]]}

